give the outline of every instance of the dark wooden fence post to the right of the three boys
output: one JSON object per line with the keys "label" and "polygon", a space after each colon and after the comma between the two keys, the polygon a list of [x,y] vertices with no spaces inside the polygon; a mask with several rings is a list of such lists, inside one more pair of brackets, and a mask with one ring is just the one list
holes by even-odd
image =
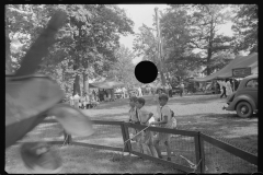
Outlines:
{"label": "dark wooden fence post to the right of the three boys", "polygon": [[194,140],[195,140],[195,156],[196,156],[197,172],[204,173],[205,172],[204,141],[201,139],[199,131],[197,132],[197,136],[194,137]]}

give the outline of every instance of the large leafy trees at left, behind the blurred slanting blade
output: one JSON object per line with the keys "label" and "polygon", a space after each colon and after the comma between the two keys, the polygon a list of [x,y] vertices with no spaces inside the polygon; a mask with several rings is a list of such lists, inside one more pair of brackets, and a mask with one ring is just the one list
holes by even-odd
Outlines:
{"label": "large leafy trees at left, behind the blurred slanting blade", "polygon": [[[110,65],[117,61],[115,50],[119,48],[119,35],[133,34],[134,22],[114,4],[5,5],[7,50],[13,40],[22,45],[7,56],[7,68],[13,71],[19,68],[20,59],[56,11],[66,12],[67,20],[48,56],[43,58],[38,72],[56,78],[60,84],[65,81],[73,83],[73,93],[80,94],[80,75],[87,84],[88,77],[107,74]],[[66,89],[66,84],[70,83],[61,86]]]}

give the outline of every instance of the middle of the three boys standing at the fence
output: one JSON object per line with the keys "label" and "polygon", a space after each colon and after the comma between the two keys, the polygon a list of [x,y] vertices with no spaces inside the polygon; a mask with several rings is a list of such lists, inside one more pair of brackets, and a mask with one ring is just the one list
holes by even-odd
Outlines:
{"label": "middle of the three boys standing at the fence", "polygon": [[[138,97],[136,102],[136,108],[138,109],[138,118],[141,125],[149,125],[149,119],[152,117],[152,113],[149,113],[145,109],[145,100],[142,97]],[[157,151],[153,147],[153,136],[152,131],[144,131],[139,137],[139,142],[145,148],[144,152],[148,155],[152,155],[158,158]]]}

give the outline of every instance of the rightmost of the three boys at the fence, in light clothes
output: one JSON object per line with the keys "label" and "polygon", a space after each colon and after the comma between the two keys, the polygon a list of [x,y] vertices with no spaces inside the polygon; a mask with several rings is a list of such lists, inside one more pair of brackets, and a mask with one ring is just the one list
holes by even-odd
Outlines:
{"label": "rightmost of the three boys at the fence, in light clothes", "polygon": [[[159,96],[159,118],[160,121],[153,121],[151,125],[157,125],[162,128],[173,128],[173,122],[172,122],[172,114],[171,109],[169,106],[167,106],[168,103],[168,95],[167,94],[161,94]],[[170,145],[170,139],[171,139],[171,133],[163,133],[163,132],[158,132],[157,138],[153,141],[153,145],[156,148],[156,151],[158,153],[158,156],[162,159],[161,151],[159,148],[159,143],[163,142],[164,145],[167,147],[167,153],[168,153],[168,161],[171,161],[171,145]]]}

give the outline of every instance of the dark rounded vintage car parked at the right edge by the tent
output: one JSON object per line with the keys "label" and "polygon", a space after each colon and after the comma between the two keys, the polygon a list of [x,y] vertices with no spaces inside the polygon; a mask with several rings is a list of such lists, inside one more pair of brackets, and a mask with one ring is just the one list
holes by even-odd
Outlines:
{"label": "dark rounded vintage car parked at the right edge by the tent", "polygon": [[247,118],[258,113],[258,74],[245,77],[227,104],[224,109],[236,110],[239,117]]}

